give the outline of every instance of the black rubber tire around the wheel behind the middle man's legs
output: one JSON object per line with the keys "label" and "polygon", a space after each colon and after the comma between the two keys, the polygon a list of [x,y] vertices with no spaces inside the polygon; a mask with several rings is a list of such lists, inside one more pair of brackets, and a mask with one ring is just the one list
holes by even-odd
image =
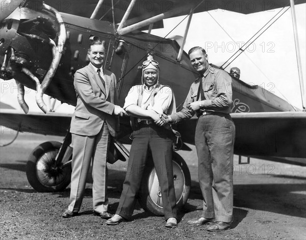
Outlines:
{"label": "black rubber tire around the wheel behind the middle man's legs", "polygon": [[[190,177],[190,172],[188,169],[188,166],[184,159],[176,152],[172,153],[172,161],[173,161],[173,166],[179,167],[180,171],[183,173],[183,189],[182,189],[182,184],[179,184],[180,179],[175,180],[175,173],[173,172],[174,176],[174,189],[175,189],[175,197],[176,197],[176,207],[177,210],[182,208],[185,203],[188,200],[189,194],[190,194],[190,187],[191,187],[191,177]],[[173,167],[174,169],[174,167]],[[141,205],[141,207],[146,210],[150,211],[153,214],[157,216],[164,216],[164,209],[163,207],[159,206],[150,196],[149,194],[149,177],[152,171],[155,171],[154,165],[151,163],[148,166],[146,166],[142,181],[141,181],[141,186],[140,186],[140,191],[138,195],[138,201]],[[156,173],[155,173],[156,174]],[[157,179],[157,178],[156,178]],[[153,191],[154,192],[154,191]],[[156,191],[155,191],[156,192]],[[181,194],[177,194],[177,193]],[[161,199],[161,198],[160,198]]]}

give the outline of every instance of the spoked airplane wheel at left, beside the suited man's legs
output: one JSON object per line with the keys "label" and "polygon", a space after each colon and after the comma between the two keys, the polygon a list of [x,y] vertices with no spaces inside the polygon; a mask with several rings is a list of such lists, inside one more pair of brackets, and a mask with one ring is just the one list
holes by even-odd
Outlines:
{"label": "spoked airplane wheel at left, beside the suited man's legs", "polygon": [[38,145],[30,154],[27,163],[27,178],[37,192],[58,192],[68,186],[71,178],[71,164],[55,166],[60,142],[50,141]]}

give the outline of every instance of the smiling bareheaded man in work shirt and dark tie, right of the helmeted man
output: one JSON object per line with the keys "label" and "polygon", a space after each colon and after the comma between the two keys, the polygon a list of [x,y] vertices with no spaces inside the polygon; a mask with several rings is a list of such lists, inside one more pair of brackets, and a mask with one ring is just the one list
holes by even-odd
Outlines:
{"label": "smiling bareheaded man in work shirt and dark tie, right of the helmeted man", "polygon": [[202,216],[187,221],[191,225],[213,223],[208,231],[223,231],[233,222],[233,157],[235,124],[231,118],[232,78],[227,72],[212,67],[206,50],[192,47],[189,59],[199,77],[192,83],[183,109],[167,122],[177,123],[194,114],[195,147],[198,156],[198,178],[203,197]]}

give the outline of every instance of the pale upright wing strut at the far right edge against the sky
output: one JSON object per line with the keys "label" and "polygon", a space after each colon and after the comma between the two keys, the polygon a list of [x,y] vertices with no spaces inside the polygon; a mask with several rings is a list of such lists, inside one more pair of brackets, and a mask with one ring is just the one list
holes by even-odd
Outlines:
{"label": "pale upright wing strut at the far right edge against the sky", "polygon": [[302,107],[303,107],[303,111],[306,111],[305,102],[304,102],[305,88],[304,88],[304,80],[303,80],[303,75],[302,75],[302,65],[301,65],[300,49],[299,49],[297,27],[296,27],[295,8],[294,8],[294,1],[293,0],[290,0],[290,6],[291,6],[291,16],[292,16],[294,40],[295,40],[295,52],[296,52],[296,60],[297,60],[297,68],[298,68],[298,77],[299,77],[301,97],[302,97]]}

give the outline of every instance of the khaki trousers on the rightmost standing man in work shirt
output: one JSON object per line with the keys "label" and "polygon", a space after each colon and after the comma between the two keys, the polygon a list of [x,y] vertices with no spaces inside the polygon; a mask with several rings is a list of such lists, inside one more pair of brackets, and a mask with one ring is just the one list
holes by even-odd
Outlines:
{"label": "khaki trousers on the rightmost standing man in work shirt", "polygon": [[230,114],[201,115],[195,130],[204,218],[233,220],[235,125]]}

